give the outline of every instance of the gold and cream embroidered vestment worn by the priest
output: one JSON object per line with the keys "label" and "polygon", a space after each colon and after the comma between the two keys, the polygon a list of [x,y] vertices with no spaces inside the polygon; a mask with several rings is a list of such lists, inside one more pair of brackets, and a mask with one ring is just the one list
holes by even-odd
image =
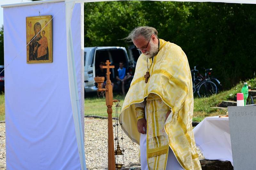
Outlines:
{"label": "gold and cream embroidered vestment worn by the priest", "polygon": [[[150,123],[154,127],[152,130],[147,129],[148,165],[150,162],[156,162],[156,156],[160,159],[161,155],[163,155],[161,159],[164,160],[170,146],[184,169],[201,169],[192,128],[194,101],[188,59],[179,46],[163,39],[159,40],[160,48],[153,59],[153,64],[149,68],[150,77],[147,83],[145,83],[144,77],[147,72],[147,58],[144,54],[140,55],[130,89],[124,99],[122,116],[119,119],[122,117],[123,129],[127,136],[139,144],[140,133],[137,130],[135,103],[143,102],[144,98],[149,100],[152,96],[158,97],[158,99],[147,101],[147,109],[151,107],[151,110],[147,111],[155,114],[153,111],[159,109],[162,109],[162,111],[165,109],[166,111],[168,108],[172,108],[172,114],[165,121],[164,129],[155,131],[156,133],[164,132],[165,135],[163,136],[166,136],[166,139],[164,137],[153,137],[152,140],[148,140],[148,135],[151,135],[152,132],[152,135],[157,136],[153,132],[153,129],[156,129],[156,126],[154,127],[153,125],[156,122],[154,119],[157,117],[151,117],[147,114],[147,124]],[[152,60],[149,59],[148,61],[150,65]],[[163,108],[154,108],[159,107],[159,104],[161,105],[161,103],[156,103],[157,100],[164,102],[165,105],[160,106]],[[161,121],[159,122],[161,124]],[[159,140],[161,145],[158,145]],[[152,161],[152,159],[154,160]],[[162,166],[159,164],[157,167],[164,169],[165,165],[164,168]],[[149,165],[149,169],[151,169],[150,167],[151,165]],[[156,166],[153,165],[153,167]]]}

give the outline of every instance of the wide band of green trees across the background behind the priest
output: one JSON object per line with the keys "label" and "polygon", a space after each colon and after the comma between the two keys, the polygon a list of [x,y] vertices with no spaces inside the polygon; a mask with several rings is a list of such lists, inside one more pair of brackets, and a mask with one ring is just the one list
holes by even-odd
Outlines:
{"label": "wide band of green trees across the background behind the priest", "polygon": [[213,68],[225,88],[256,71],[253,4],[116,1],[84,3],[85,46],[127,46],[136,26],[158,30],[187,54],[190,67]]}

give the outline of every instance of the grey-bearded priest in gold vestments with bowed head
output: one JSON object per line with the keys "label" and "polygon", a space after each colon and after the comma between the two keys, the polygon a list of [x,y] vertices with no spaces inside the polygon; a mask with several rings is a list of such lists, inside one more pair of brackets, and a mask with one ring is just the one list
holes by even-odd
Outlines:
{"label": "grey-bearded priest in gold vestments with bowed head", "polygon": [[125,38],[142,53],[119,119],[127,136],[140,145],[142,170],[200,170],[188,59],[179,46],[157,34],[142,26]]}

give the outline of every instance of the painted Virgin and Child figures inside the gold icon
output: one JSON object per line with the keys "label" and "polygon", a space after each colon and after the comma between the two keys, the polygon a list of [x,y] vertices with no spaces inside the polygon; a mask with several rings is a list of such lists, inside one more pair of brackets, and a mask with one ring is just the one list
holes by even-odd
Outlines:
{"label": "painted Virgin and Child figures inside the gold icon", "polygon": [[34,32],[35,36],[29,43],[29,60],[49,60],[48,41],[39,22],[35,23]]}

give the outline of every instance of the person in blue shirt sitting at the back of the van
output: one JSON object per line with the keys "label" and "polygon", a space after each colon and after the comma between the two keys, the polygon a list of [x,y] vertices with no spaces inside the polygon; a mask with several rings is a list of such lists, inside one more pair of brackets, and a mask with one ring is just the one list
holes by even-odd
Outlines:
{"label": "person in blue shirt sitting at the back of the van", "polygon": [[127,80],[129,80],[132,77],[132,75],[130,73],[127,73],[126,75],[126,68],[124,67],[123,61],[119,62],[119,68],[117,69],[117,71],[118,71],[118,76],[116,76],[116,80],[119,81],[117,83],[122,82],[122,92],[123,92],[123,95],[125,95],[124,84],[127,82]]}

